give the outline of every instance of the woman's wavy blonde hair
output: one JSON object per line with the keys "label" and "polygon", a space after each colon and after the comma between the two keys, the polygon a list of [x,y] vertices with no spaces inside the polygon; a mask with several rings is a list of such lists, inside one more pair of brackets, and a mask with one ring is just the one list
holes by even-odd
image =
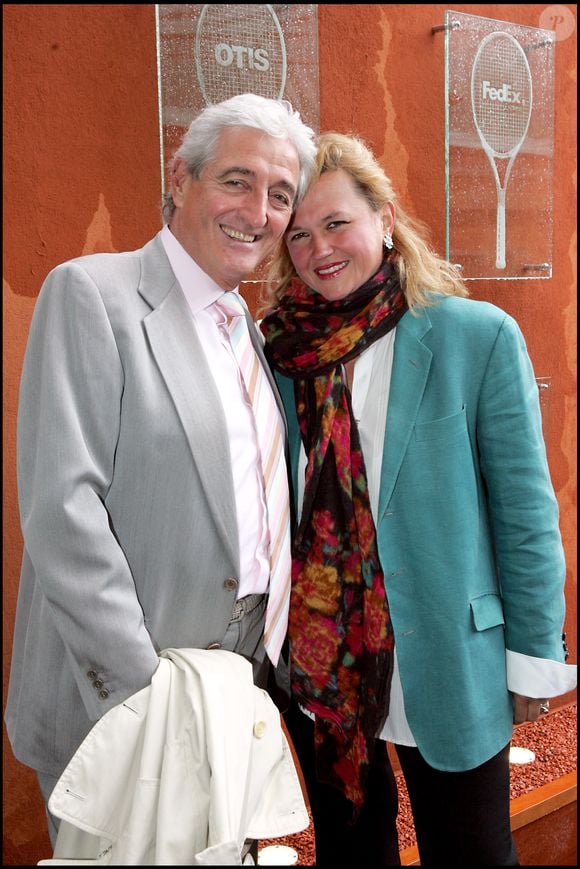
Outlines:
{"label": "woman's wavy blonde hair", "polygon": [[[398,256],[394,259],[394,265],[409,308],[432,304],[429,293],[468,295],[457,270],[447,260],[437,256],[427,244],[425,225],[406,214],[397,203],[390,179],[361,139],[342,133],[323,133],[318,137],[317,147],[316,165],[310,184],[314,184],[324,172],[343,169],[351,176],[373,211],[380,211],[387,202],[395,206],[392,235],[393,249]],[[282,241],[268,267],[264,306],[272,307],[279,302],[296,276],[290,254]]]}

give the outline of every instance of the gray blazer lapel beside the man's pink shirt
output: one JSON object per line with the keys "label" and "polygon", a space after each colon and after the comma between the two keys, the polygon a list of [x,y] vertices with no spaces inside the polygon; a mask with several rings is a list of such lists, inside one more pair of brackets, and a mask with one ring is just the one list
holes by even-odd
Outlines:
{"label": "gray blazer lapel beside the man's pink shirt", "polygon": [[237,518],[226,419],[187,300],[158,237],[143,249],[139,292],[153,307],[145,317],[145,331],[183,424],[207,504],[225,549],[239,564],[237,535],[232,534]]}

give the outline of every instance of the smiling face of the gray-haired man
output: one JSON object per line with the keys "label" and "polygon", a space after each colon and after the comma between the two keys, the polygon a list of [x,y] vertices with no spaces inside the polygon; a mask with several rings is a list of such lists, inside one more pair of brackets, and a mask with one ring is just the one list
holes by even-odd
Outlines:
{"label": "smiling face of the gray-haired man", "polygon": [[199,178],[176,161],[169,228],[197,265],[231,290],[286,230],[298,174],[298,155],[288,140],[253,127],[226,127]]}

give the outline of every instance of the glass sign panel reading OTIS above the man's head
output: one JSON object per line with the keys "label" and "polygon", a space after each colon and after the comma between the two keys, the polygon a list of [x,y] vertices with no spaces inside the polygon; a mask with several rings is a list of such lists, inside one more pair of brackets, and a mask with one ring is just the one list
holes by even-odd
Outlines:
{"label": "glass sign panel reading OTIS above the man's head", "polygon": [[238,93],[289,100],[320,124],[318,14],[304,4],[156,5],[161,188],[195,115]]}

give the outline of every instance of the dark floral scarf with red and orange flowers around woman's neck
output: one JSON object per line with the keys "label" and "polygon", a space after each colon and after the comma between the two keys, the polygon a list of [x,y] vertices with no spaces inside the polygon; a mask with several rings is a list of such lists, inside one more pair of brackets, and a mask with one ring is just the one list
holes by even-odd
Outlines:
{"label": "dark floral scarf with red and orange flowers around woman's neck", "polygon": [[271,365],[294,380],[307,455],[293,542],[292,692],[316,716],[317,773],[364,802],[371,752],[387,717],[394,638],[359,432],[343,364],[407,310],[386,258],[345,299],[295,279],[261,323]]}

